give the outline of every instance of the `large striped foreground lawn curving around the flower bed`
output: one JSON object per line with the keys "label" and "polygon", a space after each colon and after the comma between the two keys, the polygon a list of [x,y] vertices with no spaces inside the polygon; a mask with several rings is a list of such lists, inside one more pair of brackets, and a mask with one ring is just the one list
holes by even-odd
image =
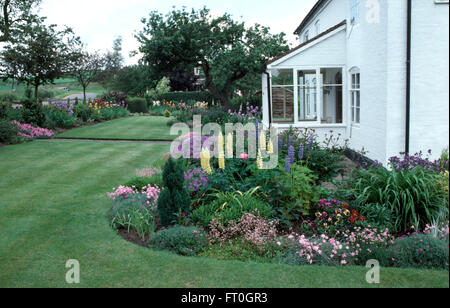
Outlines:
{"label": "large striped foreground lawn curving around the flower bed", "polygon": [[[109,226],[106,192],[167,151],[58,141],[0,148],[0,287],[70,287],[68,259],[80,261],[79,287],[373,287],[361,267],[185,258],[122,240]],[[448,272],[408,269],[382,270],[378,285],[448,286]]]}

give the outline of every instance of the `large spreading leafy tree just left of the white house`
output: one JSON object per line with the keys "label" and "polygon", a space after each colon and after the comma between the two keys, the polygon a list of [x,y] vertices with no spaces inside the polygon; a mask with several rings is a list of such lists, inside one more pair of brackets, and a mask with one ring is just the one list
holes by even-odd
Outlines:
{"label": "large spreading leafy tree just left of the white house", "polygon": [[207,8],[173,10],[166,16],[151,12],[136,36],[143,60],[161,75],[174,67],[200,66],[205,87],[229,106],[234,84],[261,73],[268,59],[286,51],[284,34],[271,34],[261,25],[246,27],[229,14],[213,17]]}

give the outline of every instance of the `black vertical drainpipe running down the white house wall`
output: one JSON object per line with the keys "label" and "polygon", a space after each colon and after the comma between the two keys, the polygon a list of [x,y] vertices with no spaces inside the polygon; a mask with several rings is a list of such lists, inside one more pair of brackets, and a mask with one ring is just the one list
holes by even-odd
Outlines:
{"label": "black vertical drainpipe running down the white house wall", "polygon": [[408,1],[407,37],[406,37],[406,134],[405,153],[410,151],[411,136],[411,45],[412,45],[412,0]]}

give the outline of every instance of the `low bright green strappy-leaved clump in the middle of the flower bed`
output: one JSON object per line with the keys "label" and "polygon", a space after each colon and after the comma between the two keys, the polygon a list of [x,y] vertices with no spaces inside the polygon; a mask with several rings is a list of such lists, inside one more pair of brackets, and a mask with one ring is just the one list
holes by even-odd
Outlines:
{"label": "low bright green strappy-leaved clump in the middle of the flower bed", "polygon": [[223,226],[232,221],[237,223],[244,213],[257,212],[261,217],[272,216],[272,208],[267,203],[254,196],[257,189],[242,193],[218,192],[214,194],[214,201],[200,206],[193,211],[191,219],[198,225],[208,228],[213,219],[217,219]]}

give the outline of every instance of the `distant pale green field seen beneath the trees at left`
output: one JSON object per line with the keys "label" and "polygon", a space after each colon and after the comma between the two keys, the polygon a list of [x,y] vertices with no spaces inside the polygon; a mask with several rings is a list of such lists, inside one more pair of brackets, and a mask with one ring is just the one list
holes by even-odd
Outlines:
{"label": "distant pale green field seen beneath the trees at left", "polygon": [[[0,95],[2,94],[14,94],[17,97],[23,97],[25,95],[25,84],[21,84],[17,87],[17,91],[12,91],[12,84],[8,80],[6,82],[0,81]],[[64,90],[67,88],[69,91]],[[73,78],[57,79],[55,84],[41,86],[39,90],[51,91],[54,93],[53,98],[63,98],[67,95],[78,94],[83,92],[83,88]],[[86,90],[89,93],[102,94],[106,90],[99,83],[92,83]]]}

